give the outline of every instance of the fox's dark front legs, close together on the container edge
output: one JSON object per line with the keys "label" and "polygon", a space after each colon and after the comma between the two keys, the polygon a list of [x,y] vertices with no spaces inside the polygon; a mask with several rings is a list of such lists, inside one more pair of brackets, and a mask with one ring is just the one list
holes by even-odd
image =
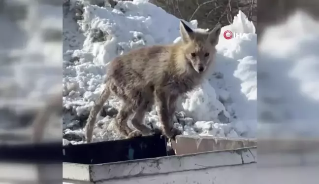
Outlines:
{"label": "fox's dark front legs, close together on the container edge", "polygon": [[175,112],[175,102],[177,97],[171,98],[164,91],[157,90],[155,98],[158,106],[158,115],[163,125],[163,133],[168,138],[175,138],[176,135],[181,134],[179,129],[173,127],[173,114]]}

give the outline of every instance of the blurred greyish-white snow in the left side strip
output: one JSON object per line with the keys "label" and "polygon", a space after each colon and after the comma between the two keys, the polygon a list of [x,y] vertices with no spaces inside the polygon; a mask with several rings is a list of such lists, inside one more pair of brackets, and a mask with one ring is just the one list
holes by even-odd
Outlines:
{"label": "blurred greyish-white snow in the left side strip", "polygon": [[[1,5],[6,8],[0,16],[0,134],[10,139],[0,142],[31,142],[32,117],[60,93],[62,11],[25,0],[2,0]],[[50,115],[43,139],[61,140],[61,120]]]}

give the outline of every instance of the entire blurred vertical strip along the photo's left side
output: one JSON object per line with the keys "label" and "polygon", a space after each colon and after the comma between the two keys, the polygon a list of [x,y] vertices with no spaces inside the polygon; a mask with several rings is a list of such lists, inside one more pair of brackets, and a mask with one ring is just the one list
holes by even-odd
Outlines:
{"label": "entire blurred vertical strip along the photo's left side", "polygon": [[0,0],[0,24],[0,183],[61,184],[62,2]]}

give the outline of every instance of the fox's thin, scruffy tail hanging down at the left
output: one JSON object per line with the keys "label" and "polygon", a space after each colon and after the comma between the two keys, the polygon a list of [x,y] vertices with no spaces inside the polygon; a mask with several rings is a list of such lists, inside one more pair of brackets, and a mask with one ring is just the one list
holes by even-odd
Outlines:
{"label": "fox's thin, scruffy tail hanging down at the left", "polygon": [[91,111],[90,115],[87,119],[86,123],[86,142],[91,143],[92,137],[93,137],[93,129],[94,129],[94,124],[96,122],[96,116],[99,113],[99,111],[102,109],[105,101],[108,99],[110,96],[110,89],[109,85],[106,83],[102,93],[100,96],[96,99]]}

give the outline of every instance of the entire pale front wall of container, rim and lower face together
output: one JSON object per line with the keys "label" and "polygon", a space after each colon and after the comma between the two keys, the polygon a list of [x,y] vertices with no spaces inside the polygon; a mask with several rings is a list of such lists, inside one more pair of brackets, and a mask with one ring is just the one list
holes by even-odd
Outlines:
{"label": "entire pale front wall of container, rim and lower face together", "polygon": [[256,147],[249,147],[99,165],[64,163],[63,178],[71,184],[233,184],[249,180],[255,168]]}

